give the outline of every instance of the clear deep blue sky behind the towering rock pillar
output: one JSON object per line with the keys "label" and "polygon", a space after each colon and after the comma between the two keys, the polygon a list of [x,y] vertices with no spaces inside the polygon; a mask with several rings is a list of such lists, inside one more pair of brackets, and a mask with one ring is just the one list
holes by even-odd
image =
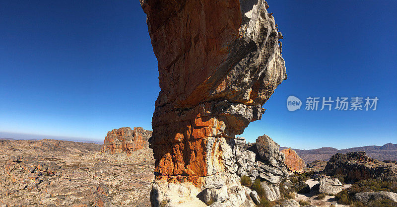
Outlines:
{"label": "clear deep blue sky behind the towering rock pillar", "polygon": [[[243,136],[301,149],[396,143],[397,1],[268,4],[288,79]],[[0,28],[0,132],[103,140],[151,129],[160,88],[138,0],[2,0]],[[289,95],[379,101],[376,111],[289,112]]]}

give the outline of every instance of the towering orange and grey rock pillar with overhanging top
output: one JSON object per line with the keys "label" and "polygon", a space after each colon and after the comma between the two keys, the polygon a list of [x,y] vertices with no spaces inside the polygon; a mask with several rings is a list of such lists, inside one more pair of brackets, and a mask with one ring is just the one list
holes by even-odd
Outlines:
{"label": "towering orange and grey rock pillar with overhanging top", "polygon": [[152,203],[159,206],[174,192],[170,188],[178,186],[175,192],[191,192],[179,198],[190,195],[193,200],[197,195],[192,192],[215,195],[225,186],[228,198],[214,196],[215,203],[240,206],[246,196],[235,174],[235,135],[262,118],[262,105],[286,79],[278,44],[282,36],[267,13],[267,3],[140,3],[147,14],[161,88],[150,139],[157,180]]}

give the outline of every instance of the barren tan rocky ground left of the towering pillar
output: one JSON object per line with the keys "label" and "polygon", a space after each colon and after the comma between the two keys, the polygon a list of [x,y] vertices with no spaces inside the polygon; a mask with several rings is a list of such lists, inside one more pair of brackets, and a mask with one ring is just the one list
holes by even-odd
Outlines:
{"label": "barren tan rocky ground left of the towering pillar", "polygon": [[0,140],[0,207],[148,207],[151,149],[101,153],[102,145]]}

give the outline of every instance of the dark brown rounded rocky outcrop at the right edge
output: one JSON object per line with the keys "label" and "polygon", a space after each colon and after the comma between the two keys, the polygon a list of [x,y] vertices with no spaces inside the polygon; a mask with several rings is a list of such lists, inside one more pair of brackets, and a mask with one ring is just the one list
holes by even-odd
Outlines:
{"label": "dark brown rounded rocky outcrop at the right edge", "polygon": [[397,180],[397,166],[384,163],[371,157],[365,152],[336,153],[331,156],[324,172],[327,175],[346,175],[345,181],[358,181],[376,178],[381,180]]}

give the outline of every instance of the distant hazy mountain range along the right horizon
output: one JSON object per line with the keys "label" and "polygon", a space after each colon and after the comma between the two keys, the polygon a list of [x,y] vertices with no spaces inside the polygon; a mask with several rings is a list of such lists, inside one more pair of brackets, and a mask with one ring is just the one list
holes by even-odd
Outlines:
{"label": "distant hazy mountain range along the right horizon", "polygon": [[[280,150],[288,147],[280,147]],[[397,144],[387,143],[383,146],[360,146],[348,149],[336,149],[332,147],[322,147],[319,149],[293,149],[306,162],[310,163],[315,160],[328,161],[333,154],[347,153],[353,151],[365,151],[368,156],[377,160],[397,160]]]}

